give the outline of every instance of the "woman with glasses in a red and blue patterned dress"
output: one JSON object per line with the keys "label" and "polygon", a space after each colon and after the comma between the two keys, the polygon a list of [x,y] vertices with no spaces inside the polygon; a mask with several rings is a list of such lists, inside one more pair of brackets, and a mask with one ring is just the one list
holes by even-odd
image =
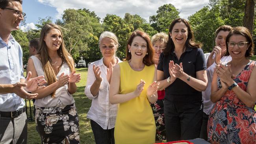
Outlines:
{"label": "woman with glasses in a red and blue patterned dress", "polygon": [[232,61],[215,67],[211,101],[216,102],[208,120],[208,141],[222,144],[256,142],[256,68],[250,31],[236,27],[226,37]]}

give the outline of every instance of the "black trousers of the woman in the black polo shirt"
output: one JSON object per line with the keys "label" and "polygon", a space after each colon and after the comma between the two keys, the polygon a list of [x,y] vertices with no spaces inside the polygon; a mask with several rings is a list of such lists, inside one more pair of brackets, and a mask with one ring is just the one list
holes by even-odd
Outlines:
{"label": "black trousers of the woman in the black polo shirt", "polygon": [[202,126],[202,102],[176,104],[165,99],[167,142],[199,138]]}

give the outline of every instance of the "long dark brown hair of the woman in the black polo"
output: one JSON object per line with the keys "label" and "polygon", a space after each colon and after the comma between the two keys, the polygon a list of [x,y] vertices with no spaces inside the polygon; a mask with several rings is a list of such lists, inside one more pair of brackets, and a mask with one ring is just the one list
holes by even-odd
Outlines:
{"label": "long dark brown hair of the woman in the black polo", "polygon": [[[196,43],[194,42],[194,35],[193,35],[193,31],[191,29],[191,26],[189,25],[189,23],[187,22],[187,20],[185,20],[184,18],[176,18],[175,20],[173,20],[173,22],[170,24],[169,27],[169,33],[172,33],[173,27],[176,23],[178,22],[183,22],[186,26],[187,26],[187,41],[184,45],[184,48],[200,48],[201,44],[200,43]],[[173,40],[171,39],[171,36],[168,33],[168,42],[167,42],[167,46],[166,48],[163,50],[163,54],[164,55],[169,55],[171,54],[171,52],[174,50],[175,45]]]}

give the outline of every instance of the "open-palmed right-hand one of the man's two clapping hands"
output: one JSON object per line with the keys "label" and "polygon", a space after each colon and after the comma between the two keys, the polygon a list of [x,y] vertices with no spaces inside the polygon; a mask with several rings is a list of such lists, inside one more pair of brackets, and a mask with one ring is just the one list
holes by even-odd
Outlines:
{"label": "open-palmed right-hand one of the man's two clapping hands", "polygon": [[26,83],[26,87],[24,87],[24,90],[28,92],[33,92],[35,90],[43,89],[45,86],[42,86],[46,83],[44,76],[38,76],[36,78],[31,79],[31,72],[28,72],[27,78],[24,83]]}

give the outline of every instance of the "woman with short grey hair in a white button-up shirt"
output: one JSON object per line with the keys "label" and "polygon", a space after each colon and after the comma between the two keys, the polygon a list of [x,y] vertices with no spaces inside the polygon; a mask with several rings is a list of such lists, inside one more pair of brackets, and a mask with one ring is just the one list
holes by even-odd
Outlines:
{"label": "woman with short grey hair in a white button-up shirt", "polygon": [[115,56],[119,46],[117,36],[109,31],[100,35],[99,47],[102,59],[91,63],[88,68],[85,95],[93,100],[87,118],[91,120],[91,128],[96,144],[114,144],[114,127],[117,116],[117,104],[109,102],[109,85],[113,66],[122,61]]}

